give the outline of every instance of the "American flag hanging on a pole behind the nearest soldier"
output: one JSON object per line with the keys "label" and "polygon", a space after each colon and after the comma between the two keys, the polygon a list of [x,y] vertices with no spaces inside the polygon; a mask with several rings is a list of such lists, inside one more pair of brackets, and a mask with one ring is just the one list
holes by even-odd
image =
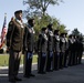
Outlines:
{"label": "American flag hanging on a pole behind the nearest soldier", "polygon": [[7,14],[4,14],[4,21],[3,21],[3,27],[1,31],[1,43],[4,42],[6,34],[7,34]]}

